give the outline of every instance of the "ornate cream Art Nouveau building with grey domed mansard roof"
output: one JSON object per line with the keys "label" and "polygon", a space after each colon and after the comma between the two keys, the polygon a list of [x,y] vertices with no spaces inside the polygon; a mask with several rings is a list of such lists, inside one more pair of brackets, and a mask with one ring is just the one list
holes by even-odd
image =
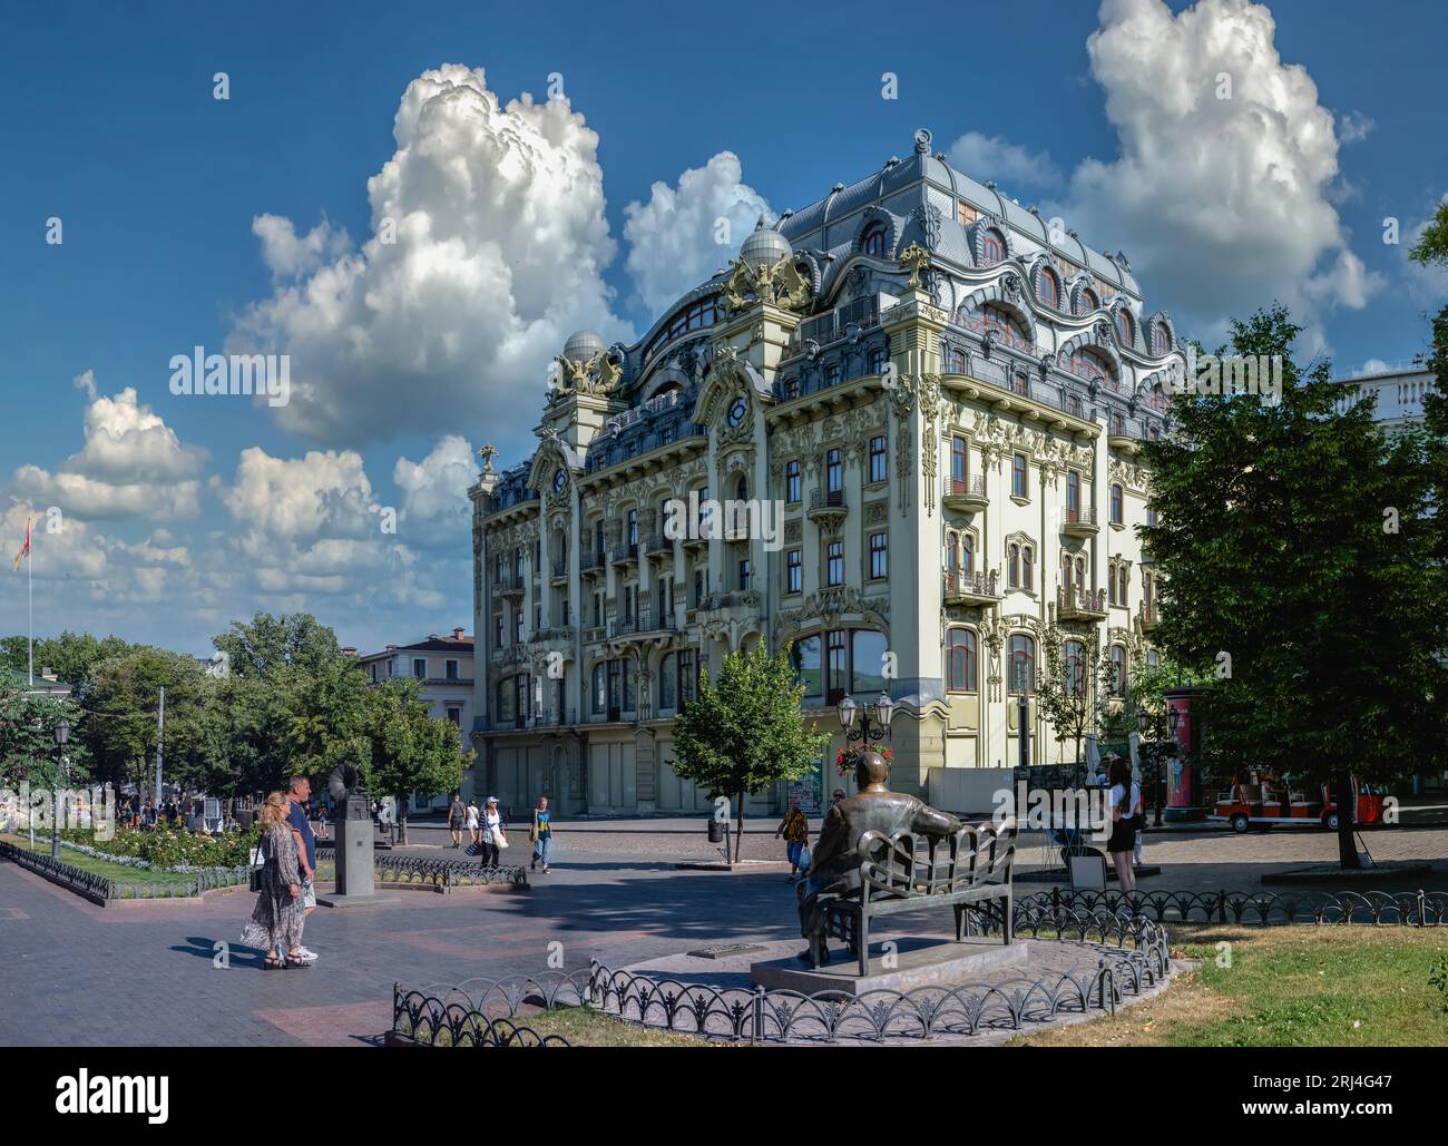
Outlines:
{"label": "ornate cream Art Nouveau building with grey domed mansard roof", "polygon": [[[536,453],[488,456],[471,491],[487,786],[514,807],[704,809],[669,767],[672,716],[760,640],[794,642],[835,734],[825,791],[834,702],[882,687],[892,787],[1009,767],[1051,625],[1122,673],[1153,655],[1137,451],[1180,357],[1125,256],[953,171],[927,132],[757,229],[637,344],[573,336]],[[666,535],[691,493],[776,505],[778,532],[704,508]],[[1058,758],[1030,712],[1035,760]]]}

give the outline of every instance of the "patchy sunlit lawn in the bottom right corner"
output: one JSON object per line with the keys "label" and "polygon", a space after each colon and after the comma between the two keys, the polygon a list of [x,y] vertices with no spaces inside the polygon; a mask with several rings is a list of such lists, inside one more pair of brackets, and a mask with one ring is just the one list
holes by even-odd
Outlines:
{"label": "patchy sunlit lawn in the bottom right corner", "polygon": [[[1429,965],[1448,928],[1167,925],[1202,959],[1157,998],[1019,1039],[1037,1046],[1442,1046]],[[1219,946],[1219,945],[1229,946]],[[1231,965],[1222,965],[1229,956]]]}

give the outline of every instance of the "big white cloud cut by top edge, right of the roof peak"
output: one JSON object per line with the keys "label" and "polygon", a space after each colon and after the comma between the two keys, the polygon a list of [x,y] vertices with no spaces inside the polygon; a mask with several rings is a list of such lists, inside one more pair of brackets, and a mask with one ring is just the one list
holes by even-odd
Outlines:
{"label": "big white cloud cut by top edge, right of the roof peak", "polygon": [[1087,41],[1121,156],[1085,161],[1061,214],[1098,246],[1125,247],[1144,278],[1169,279],[1202,323],[1273,298],[1312,318],[1363,307],[1383,284],[1348,250],[1331,203],[1334,117],[1274,33],[1268,9],[1245,0],[1179,14],[1103,0]]}

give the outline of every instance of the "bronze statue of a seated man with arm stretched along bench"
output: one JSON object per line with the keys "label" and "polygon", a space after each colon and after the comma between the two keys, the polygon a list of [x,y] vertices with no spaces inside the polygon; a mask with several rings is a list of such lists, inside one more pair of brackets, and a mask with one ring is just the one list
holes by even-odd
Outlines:
{"label": "bronze statue of a seated man with arm stretched along bench", "polygon": [[[830,961],[820,935],[820,897],[841,891],[856,891],[860,887],[860,836],[879,832],[893,836],[899,832],[917,832],[933,839],[946,839],[959,832],[963,825],[947,812],[940,812],[917,796],[891,791],[885,787],[889,767],[879,752],[862,752],[854,768],[854,783],[859,793],[840,800],[824,818],[820,841],[814,849],[809,871],[799,883],[799,932],[811,945],[820,943],[818,962]],[[807,951],[799,958],[814,962],[815,952]]]}

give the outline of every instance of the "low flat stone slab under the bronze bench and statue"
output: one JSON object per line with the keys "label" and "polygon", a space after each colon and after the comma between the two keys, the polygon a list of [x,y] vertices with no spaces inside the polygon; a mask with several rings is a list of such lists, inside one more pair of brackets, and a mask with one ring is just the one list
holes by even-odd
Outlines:
{"label": "low flat stone slab under the bronze bench and statue", "polygon": [[885,942],[870,943],[867,975],[860,974],[857,958],[835,946],[830,951],[830,962],[818,969],[811,969],[798,958],[752,964],[750,981],[766,990],[862,996],[867,991],[954,987],[972,975],[1024,964],[1027,958],[1027,945],[1021,939],[1014,943],[1002,943],[989,936],[966,939],[963,943],[953,939],[905,938],[888,942],[893,943],[893,952],[886,951]]}

